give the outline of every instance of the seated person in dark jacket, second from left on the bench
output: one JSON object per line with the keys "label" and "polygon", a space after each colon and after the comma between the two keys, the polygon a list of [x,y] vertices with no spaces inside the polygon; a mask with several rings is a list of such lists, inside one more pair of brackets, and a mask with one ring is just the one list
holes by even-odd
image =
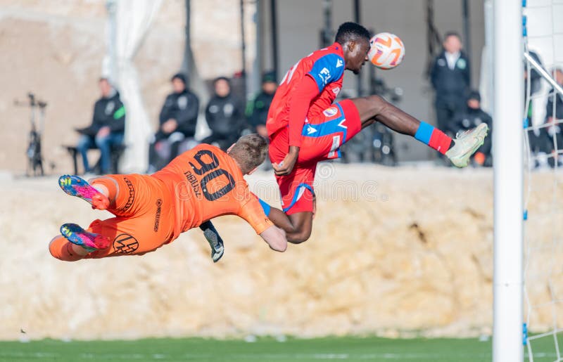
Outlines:
{"label": "seated person in dark jacket, second from left on the bench", "polygon": [[198,97],[187,89],[186,76],[177,73],[170,79],[172,93],[160,110],[160,126],[148,151],[148,172],[163,168],[179,154],[181,143],[194,138],[199,113]]}

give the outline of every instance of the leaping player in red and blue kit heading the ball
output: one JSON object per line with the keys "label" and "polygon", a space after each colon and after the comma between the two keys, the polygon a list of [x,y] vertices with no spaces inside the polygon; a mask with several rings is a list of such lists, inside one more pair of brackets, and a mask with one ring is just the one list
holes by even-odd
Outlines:
{"label": "leaping player in red and blue kit heading the ball", "polygon": [[276,174],[283,212],[260,201],[265,214],[286,231],[291,243],[303,243],[311,233],[317,162],[340,156],[340,146],[364,127],[381,122],[414,136],[446,155],[457,167],[467,166],[487,134],[486,124],[459,134],[455,140],[421,122],[380,96],[334,103],[344,70],[356,75],[367,60],[370,34],[359,24],[345,22],[331,46],[299,60],[281,80],[267,117],[270,160]]}

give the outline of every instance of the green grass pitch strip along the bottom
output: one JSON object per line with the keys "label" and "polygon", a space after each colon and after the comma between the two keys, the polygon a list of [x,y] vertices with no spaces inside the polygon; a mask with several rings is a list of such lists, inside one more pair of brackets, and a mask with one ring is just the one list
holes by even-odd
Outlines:
{"label": "green grass pitch strip along the bottom", "polygon": [[[554,346],[549,341],[534,361],[552,361]],[[534,351],[536,354],[536,350]],[[0,361],[491,361],[491,340],[408,339],[377,337],[327,337],[311,340],[288,338],[279,342],[260,337],[243,340],[147,339],[132,341],[42,340],[0,342]]]}

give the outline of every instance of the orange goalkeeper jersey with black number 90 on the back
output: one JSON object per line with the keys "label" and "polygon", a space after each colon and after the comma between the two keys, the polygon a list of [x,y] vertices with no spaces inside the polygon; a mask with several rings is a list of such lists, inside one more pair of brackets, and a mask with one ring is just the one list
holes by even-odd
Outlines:
{"label": "orange goalkeeper jersey with black number 90 on the back", "polygon": [[182,153],[154,177],[175,200],[174,238],[214,217],[238,215],[262,233],[272,222],[248,190],[241,169],[220,148],[201,144]]}

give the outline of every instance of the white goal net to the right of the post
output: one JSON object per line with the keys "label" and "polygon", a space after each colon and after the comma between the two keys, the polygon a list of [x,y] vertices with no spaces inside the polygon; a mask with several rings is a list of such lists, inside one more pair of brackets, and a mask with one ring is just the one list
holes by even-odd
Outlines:
{"label": "white goal net to the right of the post", "polygon": [[563,0],[523,6],[522,342],[529,361],[563,361]]}

